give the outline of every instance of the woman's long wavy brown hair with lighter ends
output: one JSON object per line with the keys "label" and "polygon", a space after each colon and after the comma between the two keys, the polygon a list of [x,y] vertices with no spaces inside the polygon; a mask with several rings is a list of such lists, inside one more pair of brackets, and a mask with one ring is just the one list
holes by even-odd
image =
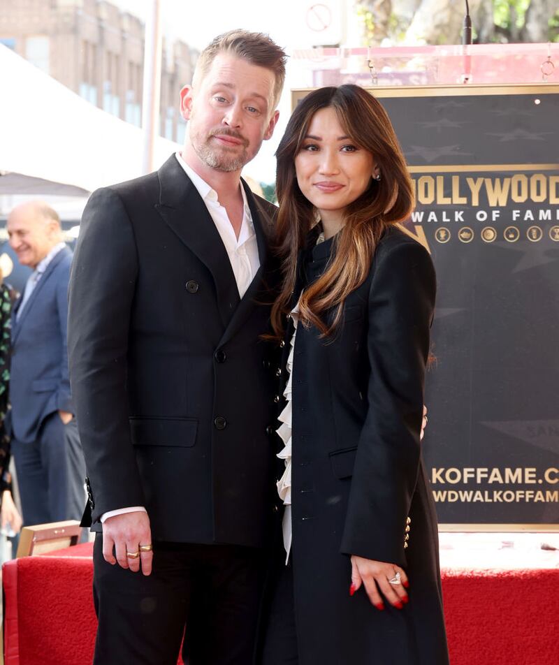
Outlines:
{"label": "woman's long wavy brown hair with lighter ends", "polygon": [[[333,108],[347,136],[374,156],[381,180],[374,180],[371,174],[368,189],[344,211],[344,226],[335,238],[332,261],[300,298],[300,321],[304,326],[316,326],[321,337],[334,333],[342,319],[344,300],[367,278],[382,233],[387,226],[405,219],[414,203],[400,143],[386,111],[371,94],[357,85],[341,85],[315,90],[299,103],[276,152],[279,213],[275,248],[282,262],[283,280],[271,318],[279,339],[284,333],[284,316],[291,309],[297,256],[317,220],[312,203],[299,189],[295,158],[312,117],[322,108]],[[326,320],[324,315],[332,308],[333,317]]]}

